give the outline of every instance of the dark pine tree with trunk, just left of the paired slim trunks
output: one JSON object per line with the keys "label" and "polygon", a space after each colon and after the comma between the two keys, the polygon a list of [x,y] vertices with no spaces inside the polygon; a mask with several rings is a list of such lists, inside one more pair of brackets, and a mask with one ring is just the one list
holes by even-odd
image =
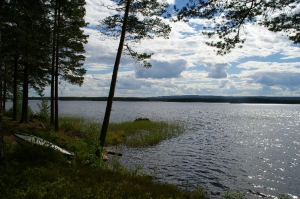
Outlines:
{"label": "dark pine tree with trunk, just left of the paired slim trunks", "polygon": [[[28,122],[28,90],[39,94],[49,84],[50,27],[49,19],[40,1],[19,2],[20,18],[17,21],[22,31],[19,37],[23,66],[23,98],[21,122]],[[45,3],[42,2],[42,3]]]}

